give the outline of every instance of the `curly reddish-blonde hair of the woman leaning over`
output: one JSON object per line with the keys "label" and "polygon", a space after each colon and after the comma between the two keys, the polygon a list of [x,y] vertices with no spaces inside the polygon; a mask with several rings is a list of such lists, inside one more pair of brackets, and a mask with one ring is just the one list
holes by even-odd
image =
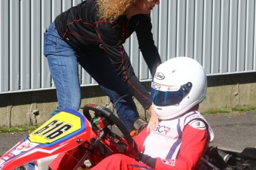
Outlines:
{"label": "curly reddish-blonde hair of the woman leaning over", "polygon": [[105,20],[116,21],[125,14],[136,0],[96,0],[99,6],[99,17]]}

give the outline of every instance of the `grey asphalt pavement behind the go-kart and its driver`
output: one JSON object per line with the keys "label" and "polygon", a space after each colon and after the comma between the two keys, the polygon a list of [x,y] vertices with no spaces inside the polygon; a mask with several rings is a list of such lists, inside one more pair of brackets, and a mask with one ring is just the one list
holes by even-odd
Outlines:
{"label": "grey asphalt pavement behind the go-kart and its driver", "polygon": [[[204,115],[214,131],[211,146],[242,151],[256,146],[256,111]],[[0,155],[7,152],[29,132],[0,134]]]}

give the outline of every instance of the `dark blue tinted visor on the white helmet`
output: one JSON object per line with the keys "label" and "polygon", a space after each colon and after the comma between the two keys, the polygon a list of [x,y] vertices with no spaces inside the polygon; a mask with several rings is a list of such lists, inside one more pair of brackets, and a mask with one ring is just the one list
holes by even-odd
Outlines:
{"label": "dark blue tinted visor on the white helmet", "polygon": [[[158,88],[155,88],[156,85],[158,86]],[[177,105],[180,103],[180,101],[183,101],[183,98],[186,95],[188,95],[188,92],[190,92],[190,89],[191,89],[191,83],[184,84],[183,86],[180,86],[180,88],[177,88],[177,86],[176,87],[163,86],[163,85],[158,85],[152,82],[151,101],[157,106]]]}

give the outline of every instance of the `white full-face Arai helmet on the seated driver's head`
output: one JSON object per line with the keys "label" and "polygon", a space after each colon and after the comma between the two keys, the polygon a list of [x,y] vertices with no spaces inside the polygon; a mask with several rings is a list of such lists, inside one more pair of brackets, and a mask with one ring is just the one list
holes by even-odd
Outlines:
{"label": "white full-face Arai helmet on the seated driver's head", "polygon": [[206,97],[206,73],[194,59],[171,58],[157,67],[151,84],[154,112],[161,120],[188,112]]}

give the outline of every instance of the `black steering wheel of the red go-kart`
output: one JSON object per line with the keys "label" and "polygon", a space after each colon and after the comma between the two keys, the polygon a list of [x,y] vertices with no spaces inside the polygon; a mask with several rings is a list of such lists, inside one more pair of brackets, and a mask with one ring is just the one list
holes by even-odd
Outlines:
{"label": "black steering wheel of the red go-kart", "polygon": [[105,118],[108,120],[108,123],[113,126],[114,124],[117,126],[117,128],[122,132],[122,135],[124,135],[124,138],[126,140],[127,146],[125,149],[125,152],[131,152],[134,149],[134,140],[132,139],[131,135],[129,134],[128,130],[125,128],[125,126],[121,123],[119,118],[117,118],[111,110],[95,105],[92,103],[88,103],[83,107],[83,114],[85,115],[85,118],[87,118],[89,121],[91,121],[91,114],[90,111],[94,112],[94,115],[97,115],[99,117]]}

